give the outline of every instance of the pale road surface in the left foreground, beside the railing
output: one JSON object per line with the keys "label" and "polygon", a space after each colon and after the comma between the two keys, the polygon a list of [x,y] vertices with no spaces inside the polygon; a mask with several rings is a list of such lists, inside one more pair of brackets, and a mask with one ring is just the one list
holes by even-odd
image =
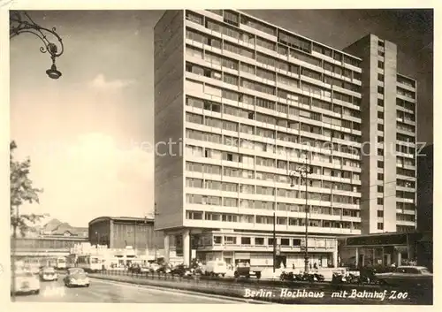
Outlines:
{"label": "pale road surface in the left foreground, beside the railing", "polygon": [[39,294],[16,296],[16,302],[240,303],[95,278],[91,278],[88,288],[67,288],[62,279],[42,282]]}

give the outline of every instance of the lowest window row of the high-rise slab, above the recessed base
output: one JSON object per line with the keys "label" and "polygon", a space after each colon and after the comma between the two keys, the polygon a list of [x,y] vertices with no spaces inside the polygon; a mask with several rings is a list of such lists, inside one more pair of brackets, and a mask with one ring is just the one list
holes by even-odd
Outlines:
{"label": "lowest window row of the high-rise slab, above the recessed base", "polygon": [[[186,218],[190,220],[206,220],[206,221],[222,221],[222,222],[240,222],[250,224],[273,224],[273,217],[255,216],[255,215],[239,215],[217,212],[204,212],[187,210]],[[296,217],[277,217],[278,225],[305,226],[305,218]],[[350,221],[330,221],[309,219],[310,227],[334,228],[334,229],[355,229],[359,230],[361,224]]]}

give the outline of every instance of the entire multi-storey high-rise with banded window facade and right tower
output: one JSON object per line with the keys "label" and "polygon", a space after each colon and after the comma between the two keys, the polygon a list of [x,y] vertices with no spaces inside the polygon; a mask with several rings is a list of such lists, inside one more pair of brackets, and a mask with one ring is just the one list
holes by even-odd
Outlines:
{"label": "entire multi-storey high-rise with banded window facade and right tower", "polygon": [[[415,81],[397,74],[390,42],[385,58],[375,51],[386,64],[378,70],[366,55],[371,40],[353,55],[240,11],[164,13],[155,27],[155,197],[166,250],[185,263],[196,249],[200,259],[271,266],[276,232],[277,265],[302,267],[306,193],[311,264],[337,265],[337,236],[396,231],[396,213],[408,216],[399,197],[415,195],[399,186],[415,168],[400,143],[415,140]],[[387,140],[397,159],[379,144]],[[363,141],[373,155],[362,154]]]}

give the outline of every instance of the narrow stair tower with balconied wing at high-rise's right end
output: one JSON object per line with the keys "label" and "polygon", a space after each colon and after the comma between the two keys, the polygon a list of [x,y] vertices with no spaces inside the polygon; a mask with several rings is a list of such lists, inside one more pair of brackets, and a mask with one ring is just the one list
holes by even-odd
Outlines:
{"label": "narrow stair tower with balconied wing at high-rise's right end", "polygon": [[374,34],[345,50],[362,58],[362,233],[415,231],[416,81]]}

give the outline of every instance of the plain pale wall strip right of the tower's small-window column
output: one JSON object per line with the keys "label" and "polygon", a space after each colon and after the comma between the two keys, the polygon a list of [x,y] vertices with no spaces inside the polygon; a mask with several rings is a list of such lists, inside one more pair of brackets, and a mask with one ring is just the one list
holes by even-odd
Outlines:
{"label": "plain pale wall strip right of the tower's small-window column", "polygon": [[[377,47],[377,43],[375,43]],[[377,49],[377,48],[376,48]],[[396,232],[397,48],[385,41],[384,62],[384,232]]]}

